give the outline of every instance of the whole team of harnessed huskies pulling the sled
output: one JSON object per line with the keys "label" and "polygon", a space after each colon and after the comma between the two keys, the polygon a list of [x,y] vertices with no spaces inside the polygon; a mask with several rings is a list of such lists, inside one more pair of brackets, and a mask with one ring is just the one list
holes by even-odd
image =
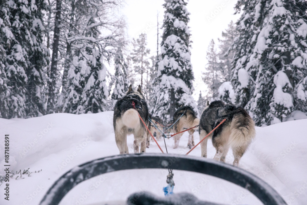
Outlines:
{"label": "whole team of harnessed huskies pulling the sled", "polygon": [[[164,126],[158,116],[151,117],[145,98],[142,94],[141,86],[137,91],[132,89],[132,85],[124,97],[115,104],[113,126],[115,131],[115,141],[120,154],[128,154],[127,135],[134,135],[133,148],[134,153],[146,152],[146,147],[150,145],[150,133],[140,120],[139,116],[145,122],[146,126],[154,137],[161,138],[161,133],[151,124],[152,122],[162,131]],[[212,139],[212,144],[216,148],[216,154],[213,159],[225,162],[225,157],[229,148],[232,149],[234,161],[233,165],[238,166],[239,160],[247,150],[249,144],[255,137],[255,123],[243,108],[234,105],[225,104],[222,101],[213,101],[207,106],[200,119],[197,118],[194,110],[189,106],[179,108],[173,117],[173,130],[178,133],[185,129],[199,125],[199,137],[202,140],[212,131],[222,120],[226,121],[208,136]],[[188,130],[188,148],[191,149],[194,143],[193,133],[196,128]],[[179,140],[183,133],[174,136],[174,147],[178,148]],[[208,137],[202,141],[201,156],[207,157]]]}

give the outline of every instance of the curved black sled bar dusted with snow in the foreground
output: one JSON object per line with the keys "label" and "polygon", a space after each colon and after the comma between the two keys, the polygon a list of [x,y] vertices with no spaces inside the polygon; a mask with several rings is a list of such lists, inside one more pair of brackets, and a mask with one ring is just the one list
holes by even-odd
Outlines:
{"label": "curved black sled bar dusted with snow in the foreground", "polygon": [[125,169],[144,168],[169,168],[212,175],[247,189],[266,205],[286,205],[286,202],[272,187],[243,169],[203,157],[153,153],[110,156],[77,166],[62,175],[52,185],[40,205],[59,204],[69,190],[97,175]]}

